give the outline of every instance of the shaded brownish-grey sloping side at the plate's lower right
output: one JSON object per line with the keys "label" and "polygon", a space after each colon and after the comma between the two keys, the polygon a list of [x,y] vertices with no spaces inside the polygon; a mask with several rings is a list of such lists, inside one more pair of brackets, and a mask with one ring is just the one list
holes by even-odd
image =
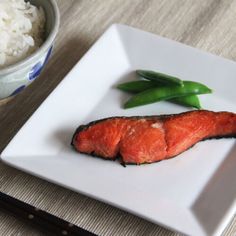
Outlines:
{"label": "shaded brownish-grey sloping side at the plate's lower right", "polygon": [[233,214],[231,207],[236,198],[235,170],[236,144],[233,145],[227,158],[191,207],[192,212],[207,235],[214,233],[216,225],[226,224],[227,217],[231,217]]}

